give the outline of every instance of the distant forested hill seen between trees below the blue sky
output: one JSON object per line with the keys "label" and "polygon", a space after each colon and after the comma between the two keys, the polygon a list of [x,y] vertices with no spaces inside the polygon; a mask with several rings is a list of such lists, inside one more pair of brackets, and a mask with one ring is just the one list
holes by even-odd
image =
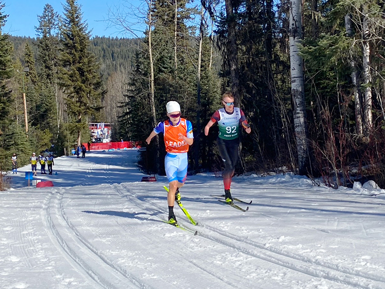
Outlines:
{"label": "distant forested hill seen between trees below the blue sky", "polygon": [[[36,38],[10,36],[14,45],[16,59],[23,63],[24,47],[30,44],[35,59],[37,56]],[[130,72],[133,67],[133,59],[138,47],[138,39],[94,37],[91,39],[90,50],[95,54],[100,63],[103,81],[107,81],[113,72]],[[37,67],[38,69],[38,67]]]}

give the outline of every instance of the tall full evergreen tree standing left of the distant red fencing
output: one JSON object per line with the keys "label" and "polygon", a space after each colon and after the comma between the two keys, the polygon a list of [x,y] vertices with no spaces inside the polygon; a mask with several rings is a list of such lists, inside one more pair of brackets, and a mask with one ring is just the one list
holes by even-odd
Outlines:
{"label": "tall full evergreen tree standing left of the distant red fencing", "polygon": [[99,64],[89,51],[90,32],[82,22],[81,6],[75,0],[67,0],[64,5],[64,20],[61,29],[62,49],[60,60],[60,81],[66,94],[67,113],[72,128],[78,134],[87,127],[87,117],[95,117],[101,109],[104,93]]}

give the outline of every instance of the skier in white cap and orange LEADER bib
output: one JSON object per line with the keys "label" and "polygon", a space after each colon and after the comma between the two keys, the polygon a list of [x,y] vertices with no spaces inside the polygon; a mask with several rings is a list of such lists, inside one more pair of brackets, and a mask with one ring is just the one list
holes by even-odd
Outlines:
{"label": "skier in white cap and orange LEADER bib", "polygon": [[174,203],[178,197],[179,188],[184,185],[187,176],[187,151],[194,142],[191,122],[181,118],[181,108],[178,102],[170,101],[166,104],[168,120],[160,122],[146,139],[150,144],[153,137],[163,132],[167,155],[164,167],[169,182],[167,194],[168,222],[177,223],[174,214]]}

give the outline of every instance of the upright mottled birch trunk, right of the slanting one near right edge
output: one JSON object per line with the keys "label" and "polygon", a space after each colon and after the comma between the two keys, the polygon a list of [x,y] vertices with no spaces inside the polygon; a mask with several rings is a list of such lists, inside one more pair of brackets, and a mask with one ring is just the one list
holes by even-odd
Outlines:
{"label": "upright mottled birch trunk, right of the slanting one near right edge", "polygon": [[362,7],[363,25],[362,25],[362,70],[363,70],[363,127],[364,136],[369,137],[373,128],[372,121],[372,75],[370,73],[370,27],[368,19],[368,6],[364,4]]}

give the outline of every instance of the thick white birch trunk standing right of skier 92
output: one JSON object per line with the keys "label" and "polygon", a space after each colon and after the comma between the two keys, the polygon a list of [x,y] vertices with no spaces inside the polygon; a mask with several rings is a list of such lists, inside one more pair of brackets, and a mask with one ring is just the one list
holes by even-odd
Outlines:
{"label": "thick white birch trunk standing right of skier 92", "polygon": [[306,132],[306,110],[303,60],[298,47],[302,38],[302,3],[301,0],[290,2],[290,71],[292,84],[294,131],[297,141],[298,170],[300,175],[307,173],[309,145]]}

